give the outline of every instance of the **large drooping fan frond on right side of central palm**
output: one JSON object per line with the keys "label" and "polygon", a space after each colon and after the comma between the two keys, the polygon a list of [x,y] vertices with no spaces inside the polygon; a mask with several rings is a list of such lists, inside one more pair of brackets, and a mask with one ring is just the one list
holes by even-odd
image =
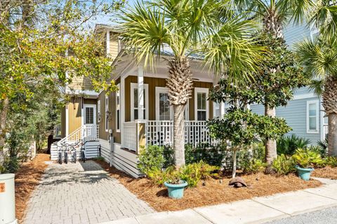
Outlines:
{"label": "large drooping fan frond on right side of central palm", "polygon": [[258,70],[257,62],[263,51],[249,37],[254,28],[254,23],[249,20],[235,18],[227,21],[205,41],[206,66],[214,69],[218,76],[225,72],[230,82],[237,85],[250,80],[251,74]]}

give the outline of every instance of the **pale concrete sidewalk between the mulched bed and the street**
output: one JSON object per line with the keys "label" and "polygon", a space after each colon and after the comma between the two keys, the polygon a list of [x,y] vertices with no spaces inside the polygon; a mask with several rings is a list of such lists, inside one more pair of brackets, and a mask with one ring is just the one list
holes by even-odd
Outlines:
{"label": "pale concrete sidewalk between the mulched bed and the street", "polygon": [[319,188],[281,193],[269,197],[254,197],[230,204],[160,212],[125,218],[104,224],[173,224],[173,223],[265,223],[337,205],[337,181],[320,179]]}

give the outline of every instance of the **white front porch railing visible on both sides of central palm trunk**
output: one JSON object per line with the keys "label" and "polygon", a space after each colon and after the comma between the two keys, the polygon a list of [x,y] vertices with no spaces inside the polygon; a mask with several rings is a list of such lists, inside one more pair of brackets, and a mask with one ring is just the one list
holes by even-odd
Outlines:
{"label": "white front porch railing visible on both sides of central palm trunk", "polygon": [[[146,123],[147,145],[172,146],[173,145],[173,121],[149,120]],[[209,129],[204,120],[185,121],[185,144],[197,146],[201,143],[211,144]]]}

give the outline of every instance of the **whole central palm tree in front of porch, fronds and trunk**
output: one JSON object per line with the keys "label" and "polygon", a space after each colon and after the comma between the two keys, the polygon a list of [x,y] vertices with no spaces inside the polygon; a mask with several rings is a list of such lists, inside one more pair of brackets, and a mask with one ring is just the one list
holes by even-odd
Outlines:
{"label": "whole central palm tree in front of porch, fronds and trunk", "polygon": [[191,55],[216,75],[225,71],[233,83],[248,81],[256,71],[260,48],[249,38],[253,22],[234,16],[230,8],[230,0],[155,0],[137,2],[121,16],[122,41],[145,68],[152,68],[164,48],[172,52],[166,85],[173,105],[176,167],[185,165],[183,121],[192,94]]}

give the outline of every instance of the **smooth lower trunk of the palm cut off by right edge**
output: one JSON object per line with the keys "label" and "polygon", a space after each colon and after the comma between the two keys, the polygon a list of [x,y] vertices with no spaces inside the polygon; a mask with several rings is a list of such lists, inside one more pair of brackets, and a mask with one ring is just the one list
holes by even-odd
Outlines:
{"label": "smooth lower trunk of the palm cut off by right edge", "polygon": [[337,113],[329,113],[328,128],[328,154],[337,156]]}

